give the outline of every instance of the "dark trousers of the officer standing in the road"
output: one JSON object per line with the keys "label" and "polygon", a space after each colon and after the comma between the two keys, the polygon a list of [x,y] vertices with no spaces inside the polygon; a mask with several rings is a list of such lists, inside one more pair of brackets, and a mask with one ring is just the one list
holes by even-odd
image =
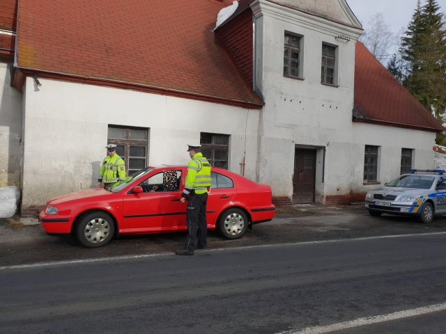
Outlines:
{"label": "dark trousers of the officer standing in the road", "polygon": [[206,246],[208,237],[208,221],[206,221],[206,202],[208,193],[201,193],[189,196],[187,202],[186,225],[189,233],[186,237],[185,248],[195,249],[195,242],[198,239],[199,246]]}

